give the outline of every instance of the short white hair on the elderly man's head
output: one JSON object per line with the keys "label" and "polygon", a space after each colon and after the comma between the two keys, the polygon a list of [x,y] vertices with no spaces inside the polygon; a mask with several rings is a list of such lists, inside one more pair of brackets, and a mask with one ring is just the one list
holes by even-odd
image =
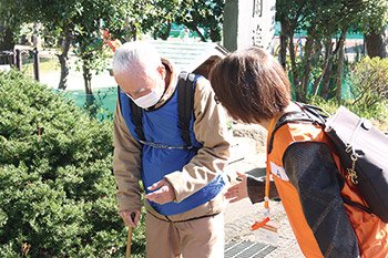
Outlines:
{"label": "short white hair on the elderly man's head", "polygon": [[135,65],[141,65],[146,74],[154,76],[162,64],[156,49],[144,41],[126,42],[113,55],[113,74],[131,72]]}

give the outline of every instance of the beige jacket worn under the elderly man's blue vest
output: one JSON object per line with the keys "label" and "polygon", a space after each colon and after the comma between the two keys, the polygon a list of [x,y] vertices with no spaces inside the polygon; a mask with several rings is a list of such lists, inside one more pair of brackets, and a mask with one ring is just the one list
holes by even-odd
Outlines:
{"label": "beige jacket worn under the elderly man's blue vest", "polygon": [[[163,60],[163,64],[167,71],[166,82],[169,86],[162,100],[156,104],[156,109],[172,96],[177,84],[178,72],[174,71],[173,65],[169,61]],[[204,78],[198,79],[196,82],[194,115],[195,122],[193,127],[195,137],[203,147],[183,167],[182,172],[176,171],[164,177],[173,186],[176,196],[174,202],[177,203],[212,182],[224,169],[229,156],[225,111],[215,103],[212,86]],[[131,135],[121,114],[119,102],[113,117],[113,171],[118,183],[116,197],[120,211],[140,210],[142,145]],[[169,217],[157,214],[146,199],[144,202],[147,211],[161,219],[171,221],[218,214],[224,208],[224,196],[222,193],[192,210]]]}

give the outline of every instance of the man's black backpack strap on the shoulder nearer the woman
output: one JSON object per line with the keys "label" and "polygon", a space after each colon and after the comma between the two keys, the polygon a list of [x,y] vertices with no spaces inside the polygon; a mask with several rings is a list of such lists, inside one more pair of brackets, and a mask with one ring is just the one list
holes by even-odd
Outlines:
{"label": "man's black backpack strap on the shoulder nearer the woman", "polygon": [[177,85],[177,111],[180,114],[181,135],[187,146],[192,145],[190,137],[190,120],[194,109],[193,84],[195,74],[182,72]]}

